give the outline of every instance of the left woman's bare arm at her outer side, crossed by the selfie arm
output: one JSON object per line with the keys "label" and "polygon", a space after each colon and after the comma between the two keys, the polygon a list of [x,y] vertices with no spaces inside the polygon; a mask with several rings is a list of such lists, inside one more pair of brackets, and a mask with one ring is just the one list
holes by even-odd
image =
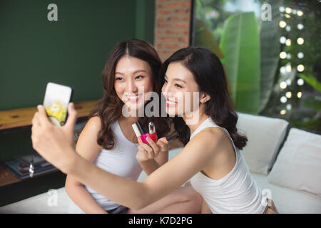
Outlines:
{"label": "left woman's bare arm at her outer side, crossed by the selfie arm", "polygon": [[[97,144],[97,133],[100,129],[101,123],[98,117],[93,117],[88,120],[85,128],[81,131],[78,138],[76,151],[78,155],[86,160],[93,162],[97,157],[101,147]],[[86,188],[78,182],[76,178],[67,175],[65,189],[69,197],[86,213],[106,213],[106,211],[96,202]]]}

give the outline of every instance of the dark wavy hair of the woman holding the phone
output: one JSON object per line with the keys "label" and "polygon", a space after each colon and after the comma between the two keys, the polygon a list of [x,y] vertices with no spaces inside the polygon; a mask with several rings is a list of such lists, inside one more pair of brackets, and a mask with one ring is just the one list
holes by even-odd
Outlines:
{"label": "dark wavy hair of the woman holding the phone", "polygon": [[[240,135],[236,128],[238,114],[233,110],[228,94],[228,83],[218,56],[202,47],[182,48],[163,63],[160,71],[161,78],[164,78],[168,65],[173,62],[183,63],[183,66],[193,74],[198,90],[210,95],[210,100],[205,103],[205,114],[209,115],[215,124],[228,130],[235,147],[242,150],[248,138]],[[179,140],[186,145],[190,138],[188,125],[181,117],[173,118],[173,122],[175,130],[178,131]]]}

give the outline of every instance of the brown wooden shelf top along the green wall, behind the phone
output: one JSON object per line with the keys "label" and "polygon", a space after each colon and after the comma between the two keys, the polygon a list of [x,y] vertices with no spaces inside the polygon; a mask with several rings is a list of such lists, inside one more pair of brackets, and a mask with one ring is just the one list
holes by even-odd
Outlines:
{"label": "brown wooden shelf top along the green wall, behind the phone", "polygon": [[[97,101],[98,100],[89,100],[75,103],[78,118],[88,116],[91,108],[93,108],[93,105],[95,105]],[[36,111],[36,107],[0,111],[0,130],[31,125],[31,120],[34,118]]]}

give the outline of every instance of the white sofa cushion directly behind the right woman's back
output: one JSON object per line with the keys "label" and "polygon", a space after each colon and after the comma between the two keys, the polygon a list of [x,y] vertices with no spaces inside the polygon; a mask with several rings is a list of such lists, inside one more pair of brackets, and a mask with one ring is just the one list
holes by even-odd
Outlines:
{"label": "white sofa cushion directly behind the right woman's back", "polygon": [[287,131],[286,120],[238,113],[238,132],[248,137],[243,155],[250,171],[267,175]]}

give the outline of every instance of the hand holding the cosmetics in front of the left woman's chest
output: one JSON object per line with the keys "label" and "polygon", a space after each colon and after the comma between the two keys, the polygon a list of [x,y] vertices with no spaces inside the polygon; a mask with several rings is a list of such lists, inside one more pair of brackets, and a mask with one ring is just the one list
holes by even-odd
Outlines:
{"label": "hand holding the cosmetics in front of the left woman's chest", "polygon": [[168,146],[158,140],[158,142],[154,142],[151,138],[146,138],[148,144],[143,143],[138,145],[138,152],[136,154],[136,159],[138,162],[146,162],[147,160],[154,159],[158,156],[160,152],[168,152]]}

